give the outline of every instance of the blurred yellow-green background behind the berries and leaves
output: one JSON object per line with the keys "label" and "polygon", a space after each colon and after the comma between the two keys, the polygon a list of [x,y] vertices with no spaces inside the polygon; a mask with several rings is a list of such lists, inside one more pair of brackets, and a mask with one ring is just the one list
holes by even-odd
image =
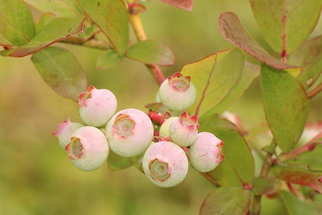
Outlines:
{"label": "blurred yellow-green background behind the berries and leaves", "polygon": [[[233,47],[223,40],[217,24],[225,11],[234,11],[268,47],[249,0],[195,1],[191,13],[156,0],[144,5],[147,12],[141,17],[147,37],[166,43],[176,56],[175,65],[163,68],[166,76],[186,63]],[[321,34],[321,27],[319,21],[311,37]],[[135,41],[133,33],[131,40]],[[118,110],[144,110],[154,101],[157,85],[144,65],[125,59],[111,69],[97,70],[102,51],[58,45],[75,54],[90,85],[114,92]],[[67,116],[81,122],[77,104],[45,84],[30,56],[0,57],[0,70],[0,214],[198,214],[213,186],[192,168],[183,183],[168,189],[154,186],[134,167],[117,172],[107,165],[94,172],[74,168],[51,133]],[[322,118],[321,101],[321,95],[312,100],[311,121]],[[230,111],[239,114],[246,127],[264,121],[259,80]]]}

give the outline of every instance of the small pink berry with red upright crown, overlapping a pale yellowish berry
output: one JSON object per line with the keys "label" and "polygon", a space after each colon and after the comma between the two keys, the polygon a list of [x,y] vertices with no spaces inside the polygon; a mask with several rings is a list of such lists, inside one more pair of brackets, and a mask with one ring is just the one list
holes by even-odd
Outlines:
{"label": "small pink berry with red upright crown, overlapping a pale yellowish berry", "polygon": [[175,144],[181,147],[189,147],[197,138],[198,128],[198,118],[188,116],[187,112],[183,112],[178,119],[170,124],[169,133]]}

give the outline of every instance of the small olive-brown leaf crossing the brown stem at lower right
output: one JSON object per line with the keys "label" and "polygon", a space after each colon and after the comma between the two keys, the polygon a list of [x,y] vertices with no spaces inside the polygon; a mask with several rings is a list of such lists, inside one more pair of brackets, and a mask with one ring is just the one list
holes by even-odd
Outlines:
{"label": "small olive-brown leaf crossing the brown stem at lower right", "polygon": [[256,178],[253,181],[252,192],[255,195],[271,195],[276,193],[282,183],[276,178]]}

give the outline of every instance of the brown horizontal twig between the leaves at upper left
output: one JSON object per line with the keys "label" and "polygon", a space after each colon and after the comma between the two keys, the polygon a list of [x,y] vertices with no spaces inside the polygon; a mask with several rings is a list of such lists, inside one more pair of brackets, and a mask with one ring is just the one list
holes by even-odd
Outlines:
{"label": "brown horizontal twig between the leaves at upper left", "polygon": [[98,40],[96,38],[85,39],[82,37],[75,36],[75,37],[67,37],[66,39],[63,39],[60,42],[74,44],[74,45],[83,45],[83,46],[97,48],[101,50],[108,50],[113,48],[109,43],[104,42],[102,40]]}

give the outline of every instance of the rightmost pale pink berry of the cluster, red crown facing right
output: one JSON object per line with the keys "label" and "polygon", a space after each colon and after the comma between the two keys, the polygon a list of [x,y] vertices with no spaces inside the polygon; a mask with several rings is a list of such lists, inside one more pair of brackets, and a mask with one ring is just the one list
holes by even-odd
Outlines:
{"label": "rightmost pale pink berry of the cluster, red crown facing right", "polygon": [[221,148],[223,142],[208,132],[198,133],[197,139],[190,147],[190,161],[199,172],[210,172],[223,160]]}

